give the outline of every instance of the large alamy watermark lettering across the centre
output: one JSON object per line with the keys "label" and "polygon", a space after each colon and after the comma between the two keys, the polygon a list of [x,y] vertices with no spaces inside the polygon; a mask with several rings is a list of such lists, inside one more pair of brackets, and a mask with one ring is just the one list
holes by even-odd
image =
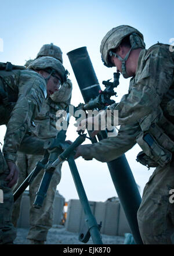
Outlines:
{"label": "large alamy watermark lettering across the centre", "polygon": [[[83,126],[81,126],[81,130],[84,131],[85,129],[88,129],[88,131],[97,131],[97,130],[108,130],[112,131],[113,126],[118,126],[118,111],[110,109],[106,111],[97,111],[97,110],[88,110],[88,113],[86,114],[85,111],[82,109],[78,109],[74,111],[74,106],[70,106],[69,109],[70,116],[74,116],[77,121],[76,126],[79,124],[81,125],[81,121],[87,118],[93,118],[95,117],[94,124],[92,123],[83,123]],[[67,112],[64,110],[59,110],[56,112],[56,129],[57,130],[67,130],[68,128],[68,122],[66,122],[66,115]]]}

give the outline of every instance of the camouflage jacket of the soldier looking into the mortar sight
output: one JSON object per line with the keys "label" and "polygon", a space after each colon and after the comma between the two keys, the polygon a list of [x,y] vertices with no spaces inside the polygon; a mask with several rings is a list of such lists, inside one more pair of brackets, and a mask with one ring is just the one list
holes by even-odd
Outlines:
{"label": "camouflage jacket of the soldier looking into the mortar sight", "polygon": [[110,106],[110,109],[118,110],[121,125],[118,136],[82,145],[82,156],[101,162],[118,158],[136,144],[137,135],[142,129],[148,129],[150,120],[153,122],[160,111],[174,123],[173,113],[168,108],[174,96],[173,70],[174,52],[169,51],[169,45],[158,43],[148,50],[142,49],[128,94],[122,97],[119,104]]}

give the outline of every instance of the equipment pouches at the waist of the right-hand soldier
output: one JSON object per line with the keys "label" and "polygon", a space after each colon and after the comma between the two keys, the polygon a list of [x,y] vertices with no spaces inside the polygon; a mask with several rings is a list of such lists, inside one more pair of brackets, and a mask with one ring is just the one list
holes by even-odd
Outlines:
{"label": "equipment pouches at the waist of the right-hand soldier", "polygon": [[[158,115],[154,122],[150,119],[150,116],[147,116],[140,123],[142,132],[137,136],[136,141],[143,152],[137,155],[136,160],[148,167],[165,166],[171,162],[174,153],[174,125],[163,113]],[[144,123],[149,123],[148,128]],[[150,158],[149,161],[147,157]]]}

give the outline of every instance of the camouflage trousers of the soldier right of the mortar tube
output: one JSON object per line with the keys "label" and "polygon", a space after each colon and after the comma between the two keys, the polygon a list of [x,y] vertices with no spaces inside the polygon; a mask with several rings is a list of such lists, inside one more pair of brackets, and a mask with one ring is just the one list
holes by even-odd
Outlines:
{"label": "camouflage trousers of the soldier right of the mortar tube", "polygon": [[174,189],[174,161],[158,167],[144,187],[137,212],[144,244],[174,244],[174,202],[169,198]]}

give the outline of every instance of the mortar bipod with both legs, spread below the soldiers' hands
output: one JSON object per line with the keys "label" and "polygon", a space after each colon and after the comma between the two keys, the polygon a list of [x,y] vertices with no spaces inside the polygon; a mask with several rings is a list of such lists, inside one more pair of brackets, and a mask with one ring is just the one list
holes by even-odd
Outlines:
{"label": "mortar bipod with both legs, spread below the soldiers' hands", "polygon": [[[85,141],[85,138],[86,138],[86,134],[79,135],[78,138],[74,141],[74,143],[71,145],[68,145],[66,150],[64,150],[59,155],[58,158],[55,155],[55,158],[57,158],[57,159],[53,163],[48,164],[48,166],[45,169],[45,173],[42,178],[42,181],[39,186],[39,190],[37,192],[37,196],[35,198],[33,205],[35,208],[42,207],[44,198],[46,197],[46,192],[49,187],[50,180],[52,178],[52,175],[53,175],[53,172],[54,172],[56,166],[67,159],[69,166],[70,166],[71,173],[73,175],[75,187],[76,187],[78,195],[79,195],[79,200],[81,201],[82,207],[84,208],[86,224],[88,226],[88,232],[90,233],[90,236],[92,237],[94,244],[103,244],[102,239],[100,237],[100,232],[99,232],[100,225],[97,225],[96,219],[91,212],[88,198],[86,197],[86,193],[84,190],[84,186],[81,182],[81,178],[79,176],[77,166],[75,165],[74,155],[72,155],[75,148],[77,148],[78,145],[81,145]],[[53,161],[53,159],[52,159],[52,161]],[[88,235],[88,237],[90,237],[90,236]],[[86,243],[86,241],[88,241],[87,236],[85,237],[84,241],[85,241],[85,243]]]}

